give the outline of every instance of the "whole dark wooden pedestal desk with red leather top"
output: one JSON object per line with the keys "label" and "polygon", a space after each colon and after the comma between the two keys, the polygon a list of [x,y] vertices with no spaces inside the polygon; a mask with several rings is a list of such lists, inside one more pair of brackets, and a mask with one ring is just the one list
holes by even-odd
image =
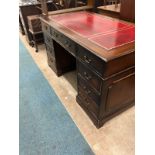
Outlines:
{"label": "whole dark wooden pedestal desk with red leather top", "polygon": [[134,104],[134,25],[88,11],[41,18],[48,64],[77,69],[77,103],[97,128]]}

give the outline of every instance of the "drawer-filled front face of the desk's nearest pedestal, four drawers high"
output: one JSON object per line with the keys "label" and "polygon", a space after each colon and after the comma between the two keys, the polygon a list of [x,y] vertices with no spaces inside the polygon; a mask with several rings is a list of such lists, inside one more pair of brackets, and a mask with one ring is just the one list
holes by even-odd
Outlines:
{"label": "drawer-filled front face of the desk's nearest pedestal, four drawers high", "polygon": [[96,122],[103,84],[102,78],[98,75],[98,70],[103,67],[103,63],[82,47],[78,47],[77,58],[77,102]]}

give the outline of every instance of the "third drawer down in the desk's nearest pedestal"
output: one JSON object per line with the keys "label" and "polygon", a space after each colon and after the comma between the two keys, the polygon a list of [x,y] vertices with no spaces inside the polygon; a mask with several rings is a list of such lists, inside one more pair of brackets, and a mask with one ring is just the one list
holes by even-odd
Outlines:
{"label": "third drawer down in the desk's nearest pedestal", "polygon": [[81,77],[78,76],[77,82],[78,82],[78,87],[82,89],[84,94],[89,96],[89,98],[91,98],[97,105],[99,105],[100,96],[97,95]]}

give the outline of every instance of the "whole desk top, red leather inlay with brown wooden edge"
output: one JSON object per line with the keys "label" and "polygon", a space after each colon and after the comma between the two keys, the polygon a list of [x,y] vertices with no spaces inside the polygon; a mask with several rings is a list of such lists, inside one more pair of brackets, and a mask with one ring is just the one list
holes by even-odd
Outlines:
{"label": "whole desk top, red leather inlay with brown wooden edge", "polygon": [[105,61],[134,51],[132,23],[87,11],[50,15],[46,22]]}

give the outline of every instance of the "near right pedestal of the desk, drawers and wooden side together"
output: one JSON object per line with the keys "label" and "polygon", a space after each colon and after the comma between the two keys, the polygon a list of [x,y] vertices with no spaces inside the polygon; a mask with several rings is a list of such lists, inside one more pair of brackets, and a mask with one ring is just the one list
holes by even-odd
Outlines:
{"label": "near right pedestal of the desk, drawers and wooden side together", "polygon": [[134,103],[134,53],[105,62],[77,47],[77,102],[101,127]]}

